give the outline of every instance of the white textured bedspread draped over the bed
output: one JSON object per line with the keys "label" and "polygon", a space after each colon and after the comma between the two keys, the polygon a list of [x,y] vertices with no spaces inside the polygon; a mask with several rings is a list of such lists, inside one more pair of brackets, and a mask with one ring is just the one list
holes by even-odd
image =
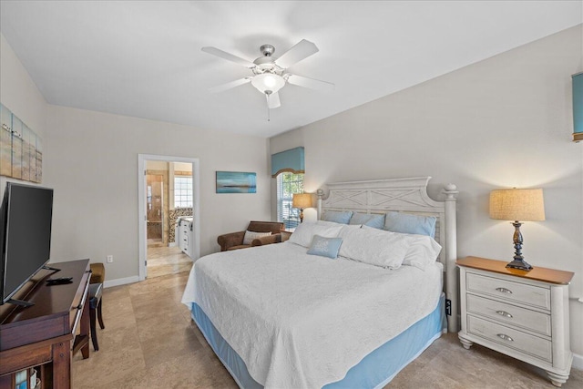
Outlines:
{"label": "white textured bedspread draped over the bed", "polygon": [[442,266],[385,270],[307,255],[291,242],[196,261],[182,302],[196,302],[266,388],[343,379],[374,349],[435,309]]}

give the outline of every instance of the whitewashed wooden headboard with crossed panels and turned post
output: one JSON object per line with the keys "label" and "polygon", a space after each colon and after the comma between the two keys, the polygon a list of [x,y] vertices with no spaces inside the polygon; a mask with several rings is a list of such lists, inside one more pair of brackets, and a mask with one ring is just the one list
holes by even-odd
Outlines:
{"label": "whitewashed wooden headboard with crossed panels and turned post", "polygon": [[451,315],[447,316],[449,332],[457,332],[457,271],[455,261],[456,227],[454,184],[447,184],[444,201],[432,200],[427,195],[427,182],[431,177],[411,179],[379,179],[374,181],[335,182],[318,189],[318,219],[326,210],[353,210],[362,213],[384,213],[388,210],[435,216],[435,241],[442,246],[439,261],[445,269],[445,295],[449,300]]}

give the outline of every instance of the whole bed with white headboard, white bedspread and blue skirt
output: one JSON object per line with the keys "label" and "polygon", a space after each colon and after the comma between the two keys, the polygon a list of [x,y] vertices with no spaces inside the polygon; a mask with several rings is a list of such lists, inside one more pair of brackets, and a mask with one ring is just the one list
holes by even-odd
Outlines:
{"label": "whole bed with white headboard, white bedspread and blue skirt", "polygon": [[[304,222],[290,241],[195,263],[182,302],[241,388],[382,387],[448,327],[457,331],[457,192],[450,184],[444,201],[432,200],[429,179],[327,184],[318,191],[318,215],[433,218],[435,241]],[[434,243],[437,261],[417,261],[411,247]]]}

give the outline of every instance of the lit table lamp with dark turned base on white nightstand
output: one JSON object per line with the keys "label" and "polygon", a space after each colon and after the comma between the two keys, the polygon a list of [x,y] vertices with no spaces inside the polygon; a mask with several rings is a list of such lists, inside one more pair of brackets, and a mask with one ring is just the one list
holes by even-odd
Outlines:
{"label": "lit table lamp with dark turned base on white nightstand", "polygon": [[490,192],[490,219],[514,220],[514,261],[506,268],[532,270],[522,256],[522,221],[545,220],[545,203],[543,189],[496,189]]}

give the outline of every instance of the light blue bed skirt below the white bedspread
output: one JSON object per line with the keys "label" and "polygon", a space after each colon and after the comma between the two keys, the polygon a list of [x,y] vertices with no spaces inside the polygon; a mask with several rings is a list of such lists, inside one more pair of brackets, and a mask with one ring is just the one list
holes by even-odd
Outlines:
{"label": "light blue bed skirt below the white bedspread", "polygon": [[[193,302],[191,312],[192,319],[199,326],[200,332],[237,384],[244,389],[262,388],[263,386],[251,377],[239,354],[223,339],[199,305]],[[382,388],[404,366],[423,353],[442,333],[445,333],[446,328],[445,295],[442,293],[434,312],[366,355],[360,363],[354,365],[346,373],[342,380],[326,384],[324,388]]]}

